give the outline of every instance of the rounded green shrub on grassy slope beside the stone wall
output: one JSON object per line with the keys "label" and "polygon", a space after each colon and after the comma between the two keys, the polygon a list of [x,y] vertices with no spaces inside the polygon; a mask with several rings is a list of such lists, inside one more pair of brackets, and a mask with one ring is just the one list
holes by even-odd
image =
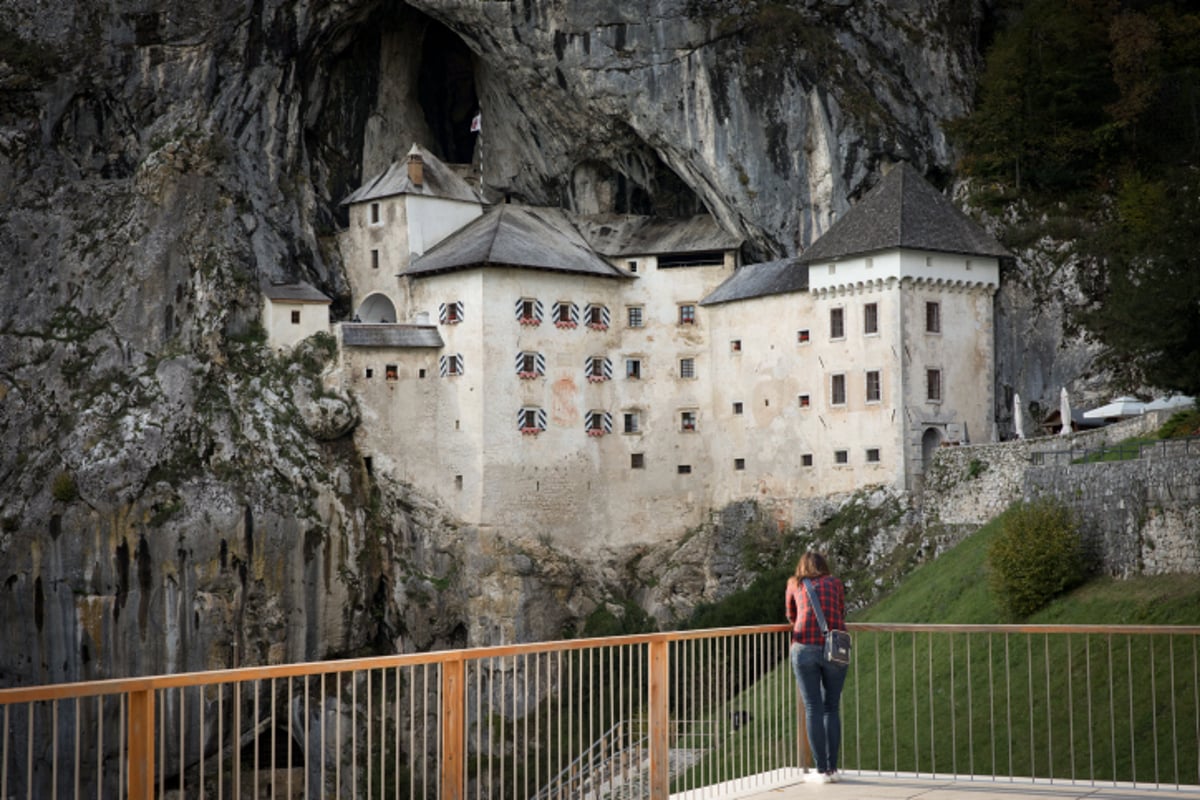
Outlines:
{"label": "rounded green shrub on grassy slope beside the stone wall", "polygon": [[1079,522],[1050,499],[1009,509],[988,548],[988,567],[1000,604],[1015,618],[1028,616],[1087,577]]}

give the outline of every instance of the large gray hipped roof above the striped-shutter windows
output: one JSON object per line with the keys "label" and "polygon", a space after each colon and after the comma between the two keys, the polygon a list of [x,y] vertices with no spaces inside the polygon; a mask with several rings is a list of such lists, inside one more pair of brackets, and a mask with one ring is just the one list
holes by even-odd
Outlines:
{"label": "large gray hipped roof above the striped-shutter windows", "polygon": [[475,266],[517,266],[624,278],[600,258],[558,209],[500,205],[472,221],[425,254],[406,275],[431,275]]}

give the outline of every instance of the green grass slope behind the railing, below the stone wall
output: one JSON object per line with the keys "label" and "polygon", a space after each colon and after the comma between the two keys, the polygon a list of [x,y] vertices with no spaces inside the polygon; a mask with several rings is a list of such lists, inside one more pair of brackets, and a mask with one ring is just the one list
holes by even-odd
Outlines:
{"label": "green grass slope behind the railing, below the stone wall", "polygon": [[[914,570],[854,621],[1010,621],[988,585],[988,545],[1000,524]],[[1024,621],[1200,625],[1200,581],[1097,578]],[[844,769],[1200,782],[1200,637],[859,632],[854,639],[842,698]],[[773,726],[791,712],[792,696],[780,690],[790,680],[787,663],[779,663],[707,715],[721,721],[752,709],[762,722],[751,738],[727,733],[679,786],[775,763]]]}

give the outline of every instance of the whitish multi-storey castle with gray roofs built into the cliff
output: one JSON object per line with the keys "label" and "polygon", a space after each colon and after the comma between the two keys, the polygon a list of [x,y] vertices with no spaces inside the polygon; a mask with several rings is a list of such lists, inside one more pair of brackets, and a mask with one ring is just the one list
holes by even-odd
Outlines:
{"label": "whitish multi-storey castle with gray roofs built into the cliff", "polygon": [[994,437],[1007,253],[901,164],[802,257],[702,217],[485,207],[414,148],[352,194],[340,380],[373,474],[577,551],[756,498],[919,487]]}

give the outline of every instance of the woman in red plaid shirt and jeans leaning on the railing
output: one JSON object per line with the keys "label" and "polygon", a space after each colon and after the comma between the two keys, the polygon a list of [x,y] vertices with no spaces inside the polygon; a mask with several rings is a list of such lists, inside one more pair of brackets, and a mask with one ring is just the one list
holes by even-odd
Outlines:
{"label": "woman in red plaid shirt and jeans leaning on the railing", "polygon": [[846,590],[841,581],[829,575],[829,565],[820,553],[808,552],[787,579],[787,621],[792,624],[792,672],[800,687],[808,722],[809,747],[816,771],[808,780],[816,783],[838,781],[838,748],[841,746],[841,717],[838,704],[846,682],[845,664],[826,661],[824,634],[805,591],[805,579],[821,603],[829,630],[846,630]]}

